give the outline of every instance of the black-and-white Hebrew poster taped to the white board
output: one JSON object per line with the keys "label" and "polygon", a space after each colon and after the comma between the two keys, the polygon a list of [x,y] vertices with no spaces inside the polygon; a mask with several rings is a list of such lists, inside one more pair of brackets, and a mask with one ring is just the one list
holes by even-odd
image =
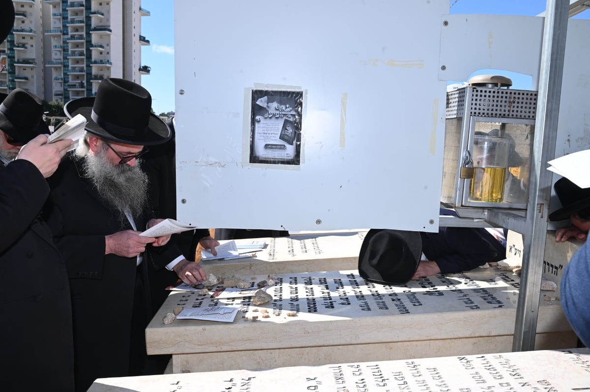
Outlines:
{"label": "black-and-white Hebrew poster taped to the white board", "polygon": [[253,90],[250,163],[300,164],[303,91]]}

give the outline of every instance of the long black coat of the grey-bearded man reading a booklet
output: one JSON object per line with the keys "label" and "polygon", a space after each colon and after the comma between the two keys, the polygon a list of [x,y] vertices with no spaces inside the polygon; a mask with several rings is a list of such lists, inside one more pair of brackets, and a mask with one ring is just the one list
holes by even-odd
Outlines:
{"label": "long black coat of the grey-bearded man reading a booklet", "polygon": [[[180,253],[160,249],[150,261],[144,255],[139,267],[135,257],[105,255],[105,236],[132,227],[106,206],[78,165],[66,156],[51,176],[46,216],[70,277],[76,388],[85,391],[99,377],[143,373],[137,361],[145,360],[143,331],[152,317],[147,263],[162,268]],[[147,219],[136,219],[137,230]]]}

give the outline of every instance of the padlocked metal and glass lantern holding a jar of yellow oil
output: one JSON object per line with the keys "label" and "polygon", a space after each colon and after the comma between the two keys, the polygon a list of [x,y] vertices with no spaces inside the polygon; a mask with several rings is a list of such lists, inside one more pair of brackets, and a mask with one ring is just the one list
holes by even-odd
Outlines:
{"label": "padlocked metal and glass lantern holding a jar of yellow oil", "polygon": [[526,209],[537,91],[510,86],[478,75],[447,92],[442,203]]}

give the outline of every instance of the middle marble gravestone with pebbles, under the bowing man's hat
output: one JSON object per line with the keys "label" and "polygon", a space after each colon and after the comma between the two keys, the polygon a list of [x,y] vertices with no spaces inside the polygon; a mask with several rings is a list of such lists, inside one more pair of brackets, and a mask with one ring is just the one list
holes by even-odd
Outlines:
{"label": "middle marble gravestone with pebbles, under the bowing man's hat", "polygon": [[[182,373],[512,350],[519,288],[512,272],[480,268],[399,286],[365,282],[356,270],[271,277],[273,300],[260,306],[252,297],[171,294],[146,329],[148,354],[172,354],[172,372]],[[245,279],[254,287],[268,275]],[[163,323],[175,307],[228,305],[240,308],[232,322]],[[542,301],[536,350],[575,345],[559,301]]]}

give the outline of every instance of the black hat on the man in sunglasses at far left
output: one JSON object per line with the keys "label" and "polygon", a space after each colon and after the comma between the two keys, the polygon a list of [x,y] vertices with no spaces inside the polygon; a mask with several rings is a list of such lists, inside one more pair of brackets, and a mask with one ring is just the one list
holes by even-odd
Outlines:
{"label": "black hat on the man in sunglasses at far left", "polygon": [[43,101],[22,88],[0,96],[0,130],[22,144],[40,134],[48,134],[43,121]]}

